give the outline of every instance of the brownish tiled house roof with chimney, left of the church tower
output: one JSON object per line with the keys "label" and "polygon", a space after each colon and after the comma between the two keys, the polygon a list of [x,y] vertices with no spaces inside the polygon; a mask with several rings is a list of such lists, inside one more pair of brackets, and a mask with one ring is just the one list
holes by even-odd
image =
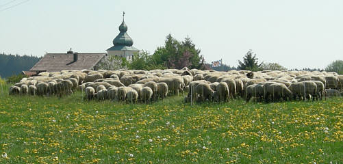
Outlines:
{"label": "brownish tiled house roof with chimney, left of the church tower", "polygon": [[77,53],[77,55],[77,61],[74,62],[74,53],[47,53],[30,71],[90,70],[106,53]]}

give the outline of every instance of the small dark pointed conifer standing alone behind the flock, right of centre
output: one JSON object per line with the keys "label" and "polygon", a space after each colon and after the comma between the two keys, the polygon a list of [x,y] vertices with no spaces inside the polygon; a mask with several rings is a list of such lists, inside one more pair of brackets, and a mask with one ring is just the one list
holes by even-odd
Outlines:
{"label": "small dark pointed conifer standing alone behind the flock, right of centre", "polygon": [[263,62],[261,64],[258,64],[256,53],[253,53],[252,50],[249,50],[243,57],[243,62],[238,60],[238,69],[251,71],[263,70],[262,64]]}

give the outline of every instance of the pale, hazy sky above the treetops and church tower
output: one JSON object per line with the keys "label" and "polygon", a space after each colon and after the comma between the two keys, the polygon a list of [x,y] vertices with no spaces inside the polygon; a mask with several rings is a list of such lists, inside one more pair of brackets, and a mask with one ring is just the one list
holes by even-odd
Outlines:
{"label": "pale, hazy sky above the treetops and church tower", "polygon": [[343,60],[342,0],[0,0],[0,53],[103,53],[123,11],[134,46],[149,53],[170,33],[230,66],[250,49],[289,69]]}

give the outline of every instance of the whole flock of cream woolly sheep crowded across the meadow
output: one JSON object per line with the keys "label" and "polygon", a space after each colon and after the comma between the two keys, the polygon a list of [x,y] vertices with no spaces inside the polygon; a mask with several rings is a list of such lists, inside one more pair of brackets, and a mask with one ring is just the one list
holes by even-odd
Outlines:
{"label": "whole flock of cream woolly sheep crowded across the meadow", "polygon": [[151,102],[187,91],[186,102],[322,100],[340,96],[343,75],[335,72],[248,70],[62,70],[41,72],[10,87],[10,94],[64,96],[76,90],[88,100]]}

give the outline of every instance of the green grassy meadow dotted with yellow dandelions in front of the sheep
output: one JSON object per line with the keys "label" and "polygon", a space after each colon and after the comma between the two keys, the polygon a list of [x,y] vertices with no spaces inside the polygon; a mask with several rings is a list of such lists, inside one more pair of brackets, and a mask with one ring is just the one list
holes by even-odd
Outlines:
{"label": "green grassy meadow dotted with yellow dandelions in front of the sheep", "polygon": [[132,105],[7,88],[0,163],[343,163],[343,98]]}

